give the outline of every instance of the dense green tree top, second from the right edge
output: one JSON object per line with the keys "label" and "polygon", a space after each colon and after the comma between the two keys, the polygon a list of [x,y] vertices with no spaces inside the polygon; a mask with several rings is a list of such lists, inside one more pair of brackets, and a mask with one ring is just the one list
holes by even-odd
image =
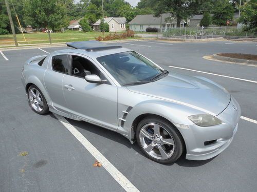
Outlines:
{"label": "dense green tree top, second from the right edge", "polygon": [[227,20],[234,15],[234,8],[230,0],[217,0],[213,10],[212,23],[218,26],[226,26]]}

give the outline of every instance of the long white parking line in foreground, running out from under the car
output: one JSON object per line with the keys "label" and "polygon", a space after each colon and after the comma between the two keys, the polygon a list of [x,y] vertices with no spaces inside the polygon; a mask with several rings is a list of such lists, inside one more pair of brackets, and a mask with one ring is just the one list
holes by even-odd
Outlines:
{"label": "long white parking line in foreground, running out from under the car", "polygon": [[93,155],[107,172],[125,189],[125,191],[139,191],[128,179],[119,172],[119,170],[109,162],[98,150],[92,145],[74,126],[72,126],[64,117],[54,114],[57,119],[70,131],[76,139],[86,148],[86,150]]}

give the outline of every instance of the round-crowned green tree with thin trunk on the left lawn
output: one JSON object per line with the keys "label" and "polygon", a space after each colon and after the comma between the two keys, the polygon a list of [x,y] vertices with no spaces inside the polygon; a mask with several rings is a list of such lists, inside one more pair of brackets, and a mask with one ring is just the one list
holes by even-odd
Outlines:
{"label": "round-crowned green tree with thin trunk on the left lawn", "polygon": [[26,0],[24,10],[32,25],[48,30],[51,44],[49,28],[60,27],[66,13],[65,5],[58,0]]}

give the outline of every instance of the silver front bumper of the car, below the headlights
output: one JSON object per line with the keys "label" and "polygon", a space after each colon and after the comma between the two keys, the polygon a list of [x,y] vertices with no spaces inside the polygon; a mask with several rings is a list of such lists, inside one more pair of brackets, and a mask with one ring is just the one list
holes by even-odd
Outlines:
{"label": "silver front bumper of the car, below the headlights", "polygon": [[227,108],[216,116],[222,124],[209,127],[193,124],[188,129],[179,129],[187,147],[186,159],[206,160],[222,153],[233,140],[240,116],[240,105],[231,97]]}

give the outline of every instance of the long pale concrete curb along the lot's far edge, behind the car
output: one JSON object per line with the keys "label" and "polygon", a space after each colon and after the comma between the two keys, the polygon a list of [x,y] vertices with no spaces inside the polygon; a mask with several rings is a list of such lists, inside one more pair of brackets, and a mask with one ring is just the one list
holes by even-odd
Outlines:
{"label": "long pale concrete curb along the lot's far edge, behind the car", "polygon": [[[121,39],[121,40],[108,40],[108,41],[101,41],[105,42],[106,44],[112,42],[126,42],[126,41],[140,41],[140,40],[156,40],[157,38],[138,38],[138,39]],[[18,46],[18,47],[0,47],[1,51],[10,51],[10,50],[19,50],[19,49],[34,49],[34,48],[49,48],[49,47],[63,47],[66,46],[65,43],[59,42],[55,44],[36,44],[31,46]]]}

